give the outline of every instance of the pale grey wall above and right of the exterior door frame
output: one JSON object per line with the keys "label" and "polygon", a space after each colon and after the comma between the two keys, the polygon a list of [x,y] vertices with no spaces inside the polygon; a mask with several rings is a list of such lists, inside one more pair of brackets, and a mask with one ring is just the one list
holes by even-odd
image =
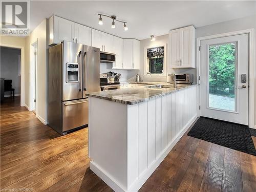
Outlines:
{"label": "pale grey wall above and right of the exterior door frame", "polygon": [[[251,29],[251,28],[254,28],[254,35],[255,35],[254,45],[256,47],[256,31],[255,31],[256,15],[229,20],[228,22],[222,22],[218,24],[199,27],[196,29],[196,37],[204,37],[208,35],[215,35],[215,34],[221,34],[221,33],[227,33],[227,32],[239,31],[239,30]],[[254,47],[254,52],[256,51],[255,47]],[[255,54],[255,61],[256,61],[256,54]],[[254,63],[254,66],[256,67],[256,63]],[[255,95],[256,95],[256,78],[255,78]],[[256,97],[254,101],[254,125],[256,125]]]}

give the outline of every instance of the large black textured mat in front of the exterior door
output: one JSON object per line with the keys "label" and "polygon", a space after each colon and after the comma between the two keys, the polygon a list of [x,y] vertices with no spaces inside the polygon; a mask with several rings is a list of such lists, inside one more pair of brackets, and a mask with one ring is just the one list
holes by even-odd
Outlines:
{"label": "large black textured mat in front of the exterior door", "polygon": [[187,134],[256,156],[248,126],[200,117]]}

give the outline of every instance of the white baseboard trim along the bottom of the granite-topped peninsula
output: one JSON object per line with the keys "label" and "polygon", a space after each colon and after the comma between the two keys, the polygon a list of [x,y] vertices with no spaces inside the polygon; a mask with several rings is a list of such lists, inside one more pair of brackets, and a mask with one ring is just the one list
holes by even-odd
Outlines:
{"label": "white baseboard trim along the bottom of the granite-topped peninsula", "polygon": [[174,138],[174,140],[165,148],[165,150],[160,154],[155,161],[152,162],[150,167],[145,170],[139,176],[139,179],[136,180],[133,185],[129,189],[125,189],[119,183],[117,183],[112,177],[104,172],[95,162],[90,162],[90,169],[106,184],[108,184],[114,191],[123,191],[123,192],[130,192],[130,191],[138,191],[141,186],[146,182],[146,180],[153,174],[156,168],[160,165],[160,163],[164,160],[164,158],[170,153],[172,148],[176,145],[176,143],[180,140],[180,138],[185,134],[188,128],[194,123],[197,119],[197,114],[191,118],[188,123],[184,126],[184,128],[180,131],[180,133]]}

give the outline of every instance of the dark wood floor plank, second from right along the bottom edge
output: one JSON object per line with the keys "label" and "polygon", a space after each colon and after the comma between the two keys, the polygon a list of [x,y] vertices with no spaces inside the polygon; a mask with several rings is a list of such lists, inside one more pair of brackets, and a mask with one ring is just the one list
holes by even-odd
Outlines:
{"label": "dark wood floor plank, second from right along the bottom edge", "polygon": [[243,191],[239,151],[225,148],[222,191]]}

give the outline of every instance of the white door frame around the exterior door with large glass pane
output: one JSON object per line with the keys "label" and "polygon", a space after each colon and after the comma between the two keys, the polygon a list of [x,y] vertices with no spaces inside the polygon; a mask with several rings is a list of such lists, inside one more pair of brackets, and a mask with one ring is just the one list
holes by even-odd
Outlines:
{"label": "white door frame around the exterior door with large glass pane", "polygon": [[[198,103],[200,105],[200,41],[221,38],[227,36],[241,35],[241,34],[249,34],[249,109],[248,109],[248,126],[250,128],[256,129],[256,125],[254,125],[254,93],[255,93],[255,82],[254,78],[256,76],[255,72],[255,55],[254,55],[254,29],[245,29],[241,31],[233,31],[228,33],[221,33],[216,35],[209,35],[204,37],[197,38],[197,83],[199,84],[198,89]],[[198,117],[200,116],[200,109],[198,108]],[[255,122],[256,123],[256,122]]]}

